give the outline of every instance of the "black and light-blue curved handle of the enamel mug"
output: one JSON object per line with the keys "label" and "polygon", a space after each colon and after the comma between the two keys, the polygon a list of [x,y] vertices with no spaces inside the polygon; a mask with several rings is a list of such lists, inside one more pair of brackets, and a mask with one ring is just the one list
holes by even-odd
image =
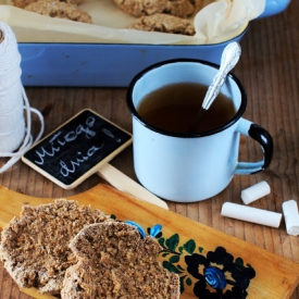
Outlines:
{"label": "black and light-blue curved handle of the enamel mug", "polygon": [[265,170],[273,157],[273,139],[269,132],[242,117],[239,120],[236,132],[258,141],[262,147],[264,159],[258,162],[238,162],[234,174],[253,174]]}

